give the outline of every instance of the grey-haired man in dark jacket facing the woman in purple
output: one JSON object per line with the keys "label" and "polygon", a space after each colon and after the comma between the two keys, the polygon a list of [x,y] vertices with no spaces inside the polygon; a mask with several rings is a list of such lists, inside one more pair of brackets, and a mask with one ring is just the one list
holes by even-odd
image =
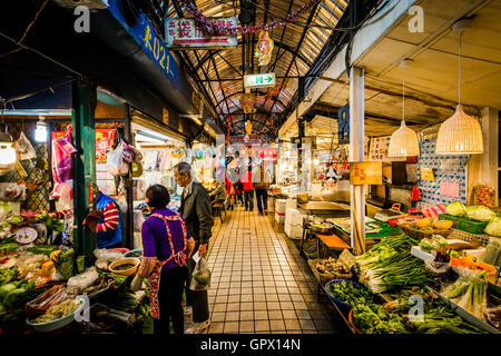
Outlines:
{"label": "grey-haired man in dark jacket facing the woman in purple", "polygon": [[[195,180],[191,166],[187,162],[179,162],[174,167],[174,178],[179,187],[184,188],[179,214],[185,219],[189,235],[195,239],[194,254],[198,251],[198,257],[207,257],[207,245],[214,226],[208,194],[204,186]],[[193,309],[194,324],[186,330],[187,334],[199,334],[210,325],[207,290],[189,289],[195,266],[195,260],[188,259],[186,304]]]}

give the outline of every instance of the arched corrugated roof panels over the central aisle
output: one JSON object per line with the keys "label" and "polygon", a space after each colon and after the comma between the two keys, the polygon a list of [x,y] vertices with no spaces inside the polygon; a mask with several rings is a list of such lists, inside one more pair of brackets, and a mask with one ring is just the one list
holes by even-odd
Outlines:
{"label": "arched corrugated roof panels over the central aisle", "polygon": [[[195,2],[207,17],[238,16],[240,12],[239,1],[236,0],[197,0]],[[275,19],[284,19],[291,11],[297,11],[306,4],[308,0],[253,0],[250,2],[256,6],[255,23],[265,23]],[[266,98],[266,95],[274,88],[254,90],[258,98],[256,108],[261,113],[256,113],[254,118],[249,119],[262,121],[262,116],[269,116],[271,112],[281,112],[285,109],[297,90],[297,77],[306,75],[314,63],[331,36],[332,29],[346,9],[347,2],[324,0],[316,7],[310,26],[307,20],[311,13],[304,13],[298,16],[294,23],[269,31],[269,36],[275,42],[269,65],[258,67],[257,60],[253,59],[254,68],[247,70],[246,73],[273,71],[277,77],[277,88],[284,82],[285,88],[279,91],[276,100]],[[170,7],[168,16],[178,17],[174,6]],[[246,47],[250,36],[246,36]],[[189,60],[196,68],[198,77],[204,80],[207,92],[222,116],[242,112],[238,95],[244,92],[244,88],[243,80],[237,79],[243,77],[243,46],[242,36],[237,37],[239,44],[236,48],[212,51],[213,53],[208,50],[188,51]],[[254,36],[255,42],[257,42],[257,34]],[[247,52],[248,49],[246,48],[245,51]],[[246,57],[248,58],[248,53]],[[218,78],[222,79],[220,83]],[[242,126],[245,120],[242,120]]]}

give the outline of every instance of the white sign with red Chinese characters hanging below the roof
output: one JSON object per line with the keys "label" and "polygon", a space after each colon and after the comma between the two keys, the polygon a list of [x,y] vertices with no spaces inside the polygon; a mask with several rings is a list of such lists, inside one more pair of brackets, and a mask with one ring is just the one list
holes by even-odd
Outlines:
{"label": "white sign with red Chinese characters hanging below the roof", "polygon": [[[210,18],[208,22],[219,26],[236,27],[236,17]],[[236,47],[236,34],[208,34],[197,24],[195,19],[165,20],[165,38],[167,47],[173,49],[218,49]]]}

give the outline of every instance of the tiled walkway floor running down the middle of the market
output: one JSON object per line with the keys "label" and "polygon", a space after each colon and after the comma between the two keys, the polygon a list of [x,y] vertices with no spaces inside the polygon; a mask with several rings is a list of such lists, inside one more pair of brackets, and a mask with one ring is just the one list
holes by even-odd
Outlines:
{"label": "tiled walkway floor running down the middle of the market", "polygon": [[217,219],[208,263],[208,333],[334,333],[307,264],[257,210],[237,207],[223,224]]}

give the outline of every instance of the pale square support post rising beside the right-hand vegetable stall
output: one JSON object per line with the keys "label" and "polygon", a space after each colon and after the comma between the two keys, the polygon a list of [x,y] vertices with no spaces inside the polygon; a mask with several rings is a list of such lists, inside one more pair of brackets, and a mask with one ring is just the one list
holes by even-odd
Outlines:
{"label": "pale square support post rising beside the right-hand vegetable stall", "polygon": [[[364,68],[350,69],[350,161],[364,161]],[[365,250],[365,186],[350,186],[351,211],[351,245],[356,254]],[[355,226],[358,227],[362,248],[355,244]]]}

